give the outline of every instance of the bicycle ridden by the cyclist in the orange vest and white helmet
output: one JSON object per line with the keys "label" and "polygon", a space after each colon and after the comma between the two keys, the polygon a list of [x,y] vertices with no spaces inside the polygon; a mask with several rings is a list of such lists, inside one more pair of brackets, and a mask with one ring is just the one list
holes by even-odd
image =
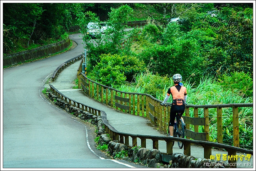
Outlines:
{"label": "bicycle ridden by the cyclist in the orange vest and white helmet", "polygon": [[[170,106],[170,104],[165,104],[164,105],[165,107],[167,106]],[[181,116],[182,116],[182,113],[181,112],[178,112],[176,117],[175,117],[175,121],[174,121],[174,134],[173,136],[174,137],[178,137],[178,138],[184,138],[185,137],[185,126],[183,124],[183,121],[181,120]],[[169,125],[170,125],[170,120],[169,120]],[[169,130],[169,126],[168,126],[168,136],[170,137],[170,130]],[[174,146],[174,142],[172,142],[172,147]],[[183,142],[181,141],[178,141],[178,147],[180,149],[183,148]]]}

